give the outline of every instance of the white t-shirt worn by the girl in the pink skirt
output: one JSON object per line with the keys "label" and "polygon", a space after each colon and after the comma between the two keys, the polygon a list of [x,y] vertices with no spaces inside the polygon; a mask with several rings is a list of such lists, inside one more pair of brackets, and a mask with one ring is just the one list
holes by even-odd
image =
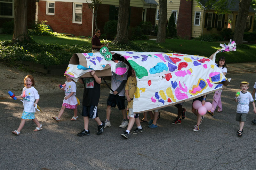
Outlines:
{"label": "white t-shirt worn by the girl in the pink skirt", "polygon": [[76,83],[73,82],[73,81],[71,81],[71,82],[66,81],[65,84],[66,84],[66,86],[64,87],[65,96],[68,96],[71,92],[74,92],[74,93],[72,94],[72,96],[70,96],[68,98],[68,100],[63,99],[63,103],[67,103],[67,104],[70,104],[70,105],[76,105],[77,104]]}

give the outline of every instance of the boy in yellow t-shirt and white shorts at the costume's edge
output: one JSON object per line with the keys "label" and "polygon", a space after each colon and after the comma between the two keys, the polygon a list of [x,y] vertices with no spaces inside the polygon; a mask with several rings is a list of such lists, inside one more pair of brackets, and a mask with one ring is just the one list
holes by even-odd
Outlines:
{"label": "boy in yellow t-shirt and white shorts at the costume's edge", "polygon": [[137,87],[137,80],[135,76],[135,71],[132,69],[132,76],[128,78],[125,86],[125,95],[128,101],[127,108],[129,110],[128,116],[130,117],[130,119],[129,119],[127,130],[123,134],[121,134],[121,136],[126,139],[129,138],[129,133],[130,133],[130,130],[132,129],[132,126],[134,125],[134,122],[136,123],[137,128],[132,131],[132,134],[143,132],[143,129],[140,125],[139,113],[133,113],[132,111],[133,97],[136,91],[136,87]]}

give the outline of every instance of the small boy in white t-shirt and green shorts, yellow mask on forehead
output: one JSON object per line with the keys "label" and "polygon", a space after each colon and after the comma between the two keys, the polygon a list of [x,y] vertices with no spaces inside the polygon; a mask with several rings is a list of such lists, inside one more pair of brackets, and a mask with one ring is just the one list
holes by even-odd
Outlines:
{"label": "small boy in white t-shirt and green shorts, yellow mask on forehead", "polygon": [[249,83],[247,81],[242,81],[240,83],[240,95],[235,97],[235,101],[238,102],[236,107],[236,121],[240,122],[240,129],[237,130],[238,137],[242,137],[242,133],[244,131],[244,122],[246,122],[246,116],[249,112],[249,104],[252,103],[253,112],[256,113],[255,103],[253,102],[253,98],[251,93],[247,92],[249,88]]}

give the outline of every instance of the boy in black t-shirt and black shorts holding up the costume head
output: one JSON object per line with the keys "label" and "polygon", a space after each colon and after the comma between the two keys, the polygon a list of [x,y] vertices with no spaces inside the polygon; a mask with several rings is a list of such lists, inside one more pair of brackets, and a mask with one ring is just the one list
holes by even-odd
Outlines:
{"label": "boy in black t-shirt and black shorts holding up the costume head", "polygon": [[101,78],[99,78],[95,71],[91,72],[92,78],[79,78],[79,82],[84,84],[84,95],[83,95],[83,111],[82,116],[84,117],[84,129],[77,133],[77,136],[90,135],[89,131],[89,118],[94,119],[98,123],[98,132],[97,135],[100,135],[103,132],[103,127],[105,122],[100,121],[98,117],[98,103],[100,100],[100,83]]}

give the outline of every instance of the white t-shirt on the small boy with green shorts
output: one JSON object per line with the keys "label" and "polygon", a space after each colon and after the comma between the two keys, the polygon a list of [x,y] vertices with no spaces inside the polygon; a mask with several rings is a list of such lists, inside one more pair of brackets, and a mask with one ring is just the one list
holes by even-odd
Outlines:
{"label": "white t-shirt on the small boy with green shorts", "polygon": [[240,91],[240,95],[238,96],[238,105],[236,107],[236,113],[248,113],[249,112],[249,104],[253,102],[252,94],[249,92],[242,93]]}

